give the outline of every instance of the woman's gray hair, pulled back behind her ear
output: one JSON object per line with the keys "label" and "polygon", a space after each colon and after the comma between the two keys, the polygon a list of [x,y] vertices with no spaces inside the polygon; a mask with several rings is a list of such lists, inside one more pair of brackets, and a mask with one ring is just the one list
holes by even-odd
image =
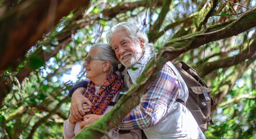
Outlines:
{"label": "woman's gray hair, pulled back behind her ear", "polygon": [[119,60],[116,57],[114,50],[106,43],[94,43],[91,48],[100,47],[101,50],[98,53],[98,57],[102,60],[109,61],[111,66],[109,67],[108,75],[111,75],[118,71]]}

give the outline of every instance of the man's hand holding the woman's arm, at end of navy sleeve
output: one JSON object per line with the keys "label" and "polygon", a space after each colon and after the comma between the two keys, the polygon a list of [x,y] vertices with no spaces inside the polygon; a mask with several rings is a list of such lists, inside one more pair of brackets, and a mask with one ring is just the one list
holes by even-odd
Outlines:
{"label": "man's hand holding the woman's arm, at end of navy sleeve", "polygon": [[91,101],[83,96],[85,90],[83,87],[76,89],[71,98],[70,115],[76,120],[83,120],[83,116],[86,115],[85,112],[90,111]]}

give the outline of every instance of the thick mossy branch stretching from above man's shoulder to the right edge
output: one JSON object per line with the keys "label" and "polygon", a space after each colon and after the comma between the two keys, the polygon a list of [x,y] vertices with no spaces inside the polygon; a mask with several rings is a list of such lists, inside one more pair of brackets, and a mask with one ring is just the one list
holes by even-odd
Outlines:
{"label": "thick mossy branch stretching from above man's shoulder to the right edge", "polygon": [[193,34],[188,34],[181,38],[170,39],[163,47],[173,46],[187,52],[188,50],[195,49],[209,42],[240,34],[241,32],[255,27],[255,23],[256,8],[248,10],[239,18],[229,21],[228,23],[208,27],[204,31],[194,32]]}

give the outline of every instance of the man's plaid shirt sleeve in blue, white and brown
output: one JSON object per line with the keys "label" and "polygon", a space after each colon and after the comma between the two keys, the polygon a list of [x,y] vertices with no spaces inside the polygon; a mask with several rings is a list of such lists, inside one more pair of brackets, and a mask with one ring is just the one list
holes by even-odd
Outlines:
{"label": "man's plaid shirt sleeve in blue, white and brown", "polygon": [[157,79],[143,94],[141,103],[123,118],[116,126],[118,129],[146,129],[154,126],[166,114],[180,94],[177,76],[169,64],[163,65]]}

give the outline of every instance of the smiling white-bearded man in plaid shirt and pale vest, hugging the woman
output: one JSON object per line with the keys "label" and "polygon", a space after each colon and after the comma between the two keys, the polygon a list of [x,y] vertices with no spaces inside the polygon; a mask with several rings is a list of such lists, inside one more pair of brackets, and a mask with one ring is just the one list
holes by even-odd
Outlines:
{"label": "smiling white-bearded man in plaid shirt and pale vest, hugging the woman", "polygon": [[[152,43],[131,23],[114,25],[107,34],[109,46],[126,68],[122,72],[125,87],[129,88],[144,71],[148,61],[154,56]],[[136,70],[130,69],[136,67]],[[84,115],[82,103],[90,104],[81,97],[79,88],[72,96],[71,115],[81,118]],[[122,130],[143,129],[147,138],[205,138],[190,111],[179,98],[187,101],[189,93],[181,75],[170,61],[163,65],[157,79],[136,108],[123,118],[116,128]],[[90,120],[90,116],[88,116]]]}

